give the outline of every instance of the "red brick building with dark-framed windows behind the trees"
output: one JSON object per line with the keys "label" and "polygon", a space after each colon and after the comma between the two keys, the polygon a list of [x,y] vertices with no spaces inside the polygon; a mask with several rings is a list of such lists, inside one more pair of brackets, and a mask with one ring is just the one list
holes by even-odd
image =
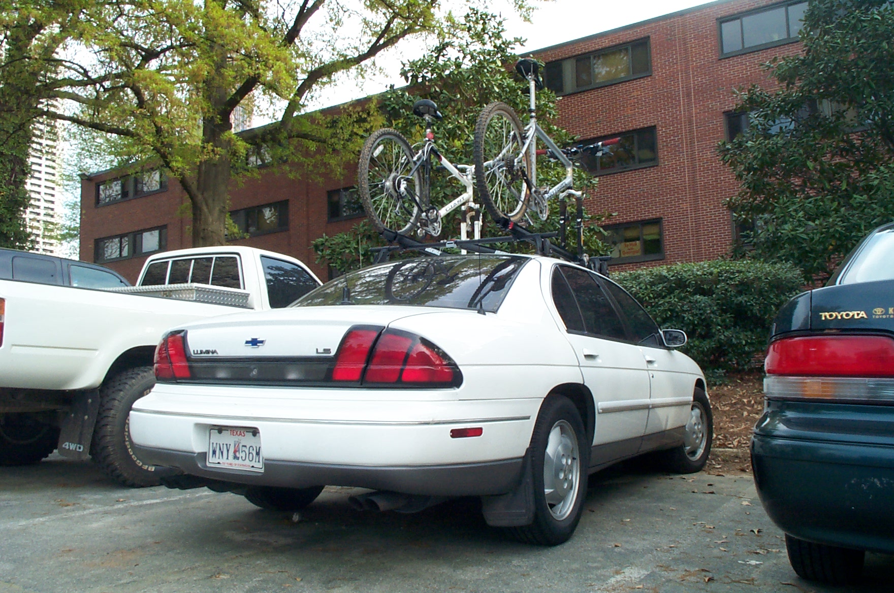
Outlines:
{"label": "red brick building with dark-framed windows behind the trees", "polygon": [[[534,52],[561,96],[560,124],[583,139],[622,138],[614,155],[586,163],[599,177],[587,204],[606,223],[611,263],[711,259],[734,240],[721,204],[737,184],[716,146],[747,125],[735,88],[768,86],[760,64],[795,54],[804,0],[720,0]],[[231,189],[232,218],[251,235],[235,243],[314,263],[311,241],[362,216],[352,176],[312,182],[261,171]],[[190,246],[179,185],[157,171],[85,176],[80,257],[131,280],[145,255]]]}

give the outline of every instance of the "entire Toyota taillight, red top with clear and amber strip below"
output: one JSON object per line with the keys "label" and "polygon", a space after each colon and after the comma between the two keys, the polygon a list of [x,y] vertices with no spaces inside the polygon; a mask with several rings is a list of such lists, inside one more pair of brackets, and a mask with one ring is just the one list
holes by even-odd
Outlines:
{"label": "entire Toyota taillight, red top with clear and amber strip below", "polygon": [[894,339],[884,336],[782,338],[764,369],[768,399],[894,402]]}

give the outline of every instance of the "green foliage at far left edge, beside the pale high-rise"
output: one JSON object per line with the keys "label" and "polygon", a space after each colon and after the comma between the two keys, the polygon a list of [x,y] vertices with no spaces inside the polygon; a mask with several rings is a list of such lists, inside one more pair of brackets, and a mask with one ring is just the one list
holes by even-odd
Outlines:
{"label": "green foliage at far left edge, beside the pale high-rise", "polygon": [[0,246],[27,249],[26,188],[34,122],[46,101],[53,56],[78,21],[82,2],[0,0]]}

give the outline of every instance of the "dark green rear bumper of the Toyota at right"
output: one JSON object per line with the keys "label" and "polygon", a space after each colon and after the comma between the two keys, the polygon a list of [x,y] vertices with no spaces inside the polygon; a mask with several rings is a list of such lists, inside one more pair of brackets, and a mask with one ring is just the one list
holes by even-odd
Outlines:
{"label": "dark green rear bumper of the Toyota at right", "polygon": [[751,458],[763,508],[780,529],[894,554],[894,447],[755,433]]}

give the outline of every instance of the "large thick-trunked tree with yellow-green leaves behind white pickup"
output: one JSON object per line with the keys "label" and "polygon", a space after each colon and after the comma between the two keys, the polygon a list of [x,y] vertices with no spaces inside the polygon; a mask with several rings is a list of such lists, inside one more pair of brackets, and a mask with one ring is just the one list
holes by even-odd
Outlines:
{"label": "large thick-trunked tree with yellow-green leaves behind white pickup", "polygon": [[[105,0],[47,85],[42,114],[102,132],[131,163],[158,163],[189,198],[194,246],[221,245],[230,182],[248,154],[289,171],[337,167],[377,113],[306,113],[343,72],[443,28],[435,0]],[[239,136],[233,111],[266,101],[277,121]]]}

